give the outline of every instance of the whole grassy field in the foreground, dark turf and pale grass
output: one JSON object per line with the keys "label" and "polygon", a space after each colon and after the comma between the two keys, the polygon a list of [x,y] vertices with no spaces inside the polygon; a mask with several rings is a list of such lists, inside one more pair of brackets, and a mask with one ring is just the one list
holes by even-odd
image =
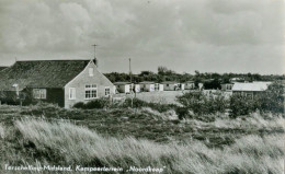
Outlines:
{"label": "whole grassy field in the foreground, dark turf and pale grass", "polygon": [[125,172],[151,166],[173,174],[283,173],[284,117],[270,113],[204,117],[215,119],[179,120],[174,111],[149,107],[66,111],[46,104],[2,105],[0,173],[15,173],[5,164],[107,166]]}

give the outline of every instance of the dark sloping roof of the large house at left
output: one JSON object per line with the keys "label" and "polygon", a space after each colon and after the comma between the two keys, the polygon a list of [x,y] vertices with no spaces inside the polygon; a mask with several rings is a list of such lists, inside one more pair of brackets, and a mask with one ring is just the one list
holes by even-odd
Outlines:
{"label": "dark sloping roof of the large house at left", "polygon": [[14,91],[25,88],[64,88],[78,76],[90,60],[16,61],[0,71],[0,90]]}

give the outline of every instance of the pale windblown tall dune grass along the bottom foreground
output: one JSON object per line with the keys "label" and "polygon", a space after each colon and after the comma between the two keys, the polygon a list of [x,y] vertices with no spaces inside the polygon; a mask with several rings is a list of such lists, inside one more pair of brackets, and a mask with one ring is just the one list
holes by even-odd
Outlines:
{"label": "pale windblown tall dune grass along the bottom foreground", "polygon": [[170,174],[280,174],[284,169],[282,134],[244,136],[231,146],[215,149],[200,141],[157,143],[103,137],[68,121],[22,119],[14,123],[13,130],[3,126],[0,130],[8,134],[1,140],[9,148],[2,164],[164,166],[164,173]]}

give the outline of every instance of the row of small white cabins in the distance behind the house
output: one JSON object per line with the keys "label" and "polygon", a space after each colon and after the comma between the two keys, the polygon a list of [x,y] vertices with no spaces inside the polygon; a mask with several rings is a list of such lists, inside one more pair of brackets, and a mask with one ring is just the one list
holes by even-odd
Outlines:
{"label": "row of small white cabins in the distance behind the house", "polygon": [[155,83],[151,81],[144,81],[137,84],[130,82],[115,82],[117,93],[130,93],[133,92],[155,92],[155,91],[183,91],[183,90],[194,90],[194,81],[187,81],[185,83],[179,83],[174,81],[166,81],[161,83]]}

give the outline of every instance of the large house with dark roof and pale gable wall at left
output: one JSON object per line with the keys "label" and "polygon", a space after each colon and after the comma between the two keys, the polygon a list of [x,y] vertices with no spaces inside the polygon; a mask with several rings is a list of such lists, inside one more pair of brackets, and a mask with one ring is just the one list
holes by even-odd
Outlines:
{"label": "large house with dark roof and pale gable wall at left", "polygon": [[69,108],[75,103],[112,96],[113,83],[93,60],[16,61],[0,71],[0,101],[24,105],[39,101]]}

